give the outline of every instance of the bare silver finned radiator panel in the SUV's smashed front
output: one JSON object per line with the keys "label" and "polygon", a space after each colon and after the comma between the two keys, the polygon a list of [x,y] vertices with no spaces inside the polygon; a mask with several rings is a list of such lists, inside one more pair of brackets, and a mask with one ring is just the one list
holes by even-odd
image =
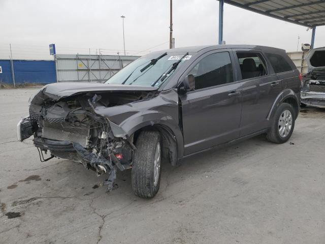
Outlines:
{"label": "bare silver finned radiator panel in the SUV's smashed front", "polygon": [[58,141],[71,141],[88,147],[89,127],[73,126],[70,123],[48,123],[43,120],[43,137]]}

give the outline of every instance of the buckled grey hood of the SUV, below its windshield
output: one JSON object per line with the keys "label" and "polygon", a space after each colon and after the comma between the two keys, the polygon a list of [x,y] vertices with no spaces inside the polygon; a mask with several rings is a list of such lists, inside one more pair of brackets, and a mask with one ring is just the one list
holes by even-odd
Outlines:
{"label": "buckled grey hood of the SUV, below its windshield", "polygon": [[96,92],[132,92],[132,91],[151,91],[158,87],[139,86],[139,85],[121,85],[106,83],[88,83],[88,82],[62,82],[52,83],[43,86],[39,92],[29,99],[29,103],[41,104],[46,99],[59,100],[82,93]]}

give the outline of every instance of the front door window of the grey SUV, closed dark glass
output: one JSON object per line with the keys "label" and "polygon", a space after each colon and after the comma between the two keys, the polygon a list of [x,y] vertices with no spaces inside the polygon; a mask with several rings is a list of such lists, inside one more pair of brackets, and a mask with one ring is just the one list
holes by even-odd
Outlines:
{"label": "front door window of the grey SUV, closed dark glass", "polygon": [[196,90],[234,81],[229,52],[213,53],[202,58],[188,74],[194,76]]}

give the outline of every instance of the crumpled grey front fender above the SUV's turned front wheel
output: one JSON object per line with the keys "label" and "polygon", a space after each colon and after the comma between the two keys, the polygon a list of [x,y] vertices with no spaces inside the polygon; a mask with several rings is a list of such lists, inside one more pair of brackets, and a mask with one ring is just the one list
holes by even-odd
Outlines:
{"label": "crumpled grey front fender above the SUV's turned front wheel", "polygon": [[163,126],[176,140],[177,158],[184,155],[177,89],[165,90],[154,98],[125,105],[97,106],[95,112],[108,119],[115,137],[129,137],[146,126]]}

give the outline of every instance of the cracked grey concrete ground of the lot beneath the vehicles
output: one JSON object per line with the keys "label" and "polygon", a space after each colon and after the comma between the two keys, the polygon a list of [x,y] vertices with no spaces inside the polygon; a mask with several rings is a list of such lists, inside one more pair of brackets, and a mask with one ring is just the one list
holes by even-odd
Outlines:
{"label": "cracked grey concrete ground of the lot beneath the vehicles", "polygon": [[285,144],[259,136],[163,165],[144,200],[129,170],[107,194],[105,176],[17,142],[35,92],[0,90],[0,243],[325,243],[325,109],[304,108]]}

